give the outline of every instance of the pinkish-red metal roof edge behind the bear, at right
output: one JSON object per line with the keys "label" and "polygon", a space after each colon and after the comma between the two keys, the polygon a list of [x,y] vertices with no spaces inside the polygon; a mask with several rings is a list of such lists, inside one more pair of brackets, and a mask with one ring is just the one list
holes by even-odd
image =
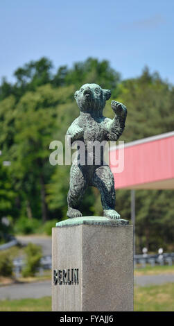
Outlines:
{"label": "pinkish-red metal roof edge behind the bear, at right", "polygon": [[[118,151],[111,148],[110,158]],[[113,167],[117,189],[174,189],[174,132],[125,144],[123,171],[115,173]]]}

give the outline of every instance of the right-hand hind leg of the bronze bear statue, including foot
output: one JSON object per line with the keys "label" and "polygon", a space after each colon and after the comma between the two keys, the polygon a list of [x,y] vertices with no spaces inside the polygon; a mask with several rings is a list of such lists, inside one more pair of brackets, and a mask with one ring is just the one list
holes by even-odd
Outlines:
{"label": "right-hand hind leg of the bronze bear statue, including foot", "polygon": [[103,216],[112,219],[119,219],[120,214],[115,207],[114,176],[107,165],[99,166],[94,171],[93,185],[101,193],[101,203],[103,206]]}

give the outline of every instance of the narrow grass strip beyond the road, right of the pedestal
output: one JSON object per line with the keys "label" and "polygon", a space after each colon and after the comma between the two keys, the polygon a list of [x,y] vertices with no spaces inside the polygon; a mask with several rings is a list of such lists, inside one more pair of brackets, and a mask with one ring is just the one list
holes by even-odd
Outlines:
{"label": "narrow grass strip beyond the road, right of the pedestal", "polygon": [[146,266],[145,268],[135,268],[134,275],[159,275],[159,274],[174,274],[174,265],[168,266]]}

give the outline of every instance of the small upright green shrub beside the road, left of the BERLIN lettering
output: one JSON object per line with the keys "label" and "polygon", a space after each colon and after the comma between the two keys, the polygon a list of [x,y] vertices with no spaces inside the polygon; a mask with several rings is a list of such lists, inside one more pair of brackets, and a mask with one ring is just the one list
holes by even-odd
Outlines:
{"label": "small upright green shrub beside the road, left of the BERLIN lettering", "polygon": [[40,259],[42,258],[42,248],[34,243],[28,243],[25,248],[26,266],[22,269],[22,276],[35,276],[37,268],[40,267]]}

